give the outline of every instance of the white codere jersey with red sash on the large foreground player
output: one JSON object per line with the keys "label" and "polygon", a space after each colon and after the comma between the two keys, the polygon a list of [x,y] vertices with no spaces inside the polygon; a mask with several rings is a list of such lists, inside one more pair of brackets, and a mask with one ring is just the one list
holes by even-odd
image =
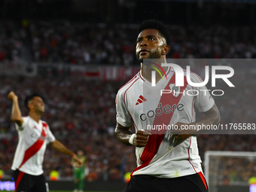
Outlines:
{"label": "white codere jersey with red sash on the large foreground player", "polygon": [[[156,87],[152,87],[139,72],[117,93],[117,123],[126,127],[134,124],[136,131],[151,129],[151,133],[160,133],[149,136],[145,148],[136,148],[137,168],[132,175],[175,178],[202,172],[197,137],[175,139],[163,124],[192,123],[196,120],[194,107],[200,112],[208,111],[214,105],[214,99],[206,87],[191,87],[186,78],[184,87],[175,86],[175,72],[170,67],[166,76],[167,80],[162,78]],[[190,79],[194,83],[202,82],[194,73],[190,73]],[[161,90],[166,90],[162,96]],[[166,132],[157,132],[159,125]]]}

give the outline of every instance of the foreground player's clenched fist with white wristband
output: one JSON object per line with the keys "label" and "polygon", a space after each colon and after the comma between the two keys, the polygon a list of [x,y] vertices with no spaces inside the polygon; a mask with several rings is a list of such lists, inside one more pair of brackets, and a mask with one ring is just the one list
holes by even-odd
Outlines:
{"label": "foreground player's clenched fist with white wristband", "polygon": [[136,134],[133,134],[130,138],[130,143],[136,147],[142,148],[145,147],[145,145],[148,142],[148,136],[151,136],[151,133],[149,131],[137,131]]}

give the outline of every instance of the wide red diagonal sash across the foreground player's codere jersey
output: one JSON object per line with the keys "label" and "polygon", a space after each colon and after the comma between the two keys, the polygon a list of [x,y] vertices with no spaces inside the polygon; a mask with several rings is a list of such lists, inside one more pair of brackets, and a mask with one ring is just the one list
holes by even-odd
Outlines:
{"label": "wide red diagonal sash across the foreground player's codere jersey", "polygon": [[[172,78],[168,82],[168,84],[165,87],[165,90],[169,90],[169,84],[175,84],[175,74],[172,75]],[[169,94],[163,94],[160,98],[160,102],[162,103],[162,106],[165,105],[178,105],[178,102],[181,99],[182,93],[184,92],[184,89],[187,87],[187,79],[184,78],[184,87],[181,87],[180,94],[175,97],[172,95],[172,93]],[[170,120],[172,119],[173,111],[169,114],[166,114],[163,112],[161,115],[155,115],[154,117],[154,127],[156,125],[163,125],[166,126],[169,125]],[[163,141],[163,138],[165,136],[166,130],[158,131],[157,129],[151,130],[152,135],[149,136],[147,145],[144,148],[144,151],[142,152],[142,157],[140,158],[142,160],[142,165],[136,167],[136,169],[133,170],[133,172],[136,172],[139,169],[142,169],[145,166],[148,166],[148,164],[151,162],[151,160],[154,158],[154,156],[157,154],[158,148],[160,147],[161,142]],[[131,176],[133,176],[133,172]]]}

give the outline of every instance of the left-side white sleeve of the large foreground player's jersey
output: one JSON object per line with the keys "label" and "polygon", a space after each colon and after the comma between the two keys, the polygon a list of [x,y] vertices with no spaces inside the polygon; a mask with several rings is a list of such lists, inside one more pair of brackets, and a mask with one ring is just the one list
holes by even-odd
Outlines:
{"label": "left-side white sleeve of the large foreground player's jersey", "polygon": [[120,90],[117,93],[116,99],[116,110],[117,110],[117,123],[122,126],[129,127],[133,124],[133,118],[130,116],[128,109],[126,108],[125,102],[123,100],[123,94]]}

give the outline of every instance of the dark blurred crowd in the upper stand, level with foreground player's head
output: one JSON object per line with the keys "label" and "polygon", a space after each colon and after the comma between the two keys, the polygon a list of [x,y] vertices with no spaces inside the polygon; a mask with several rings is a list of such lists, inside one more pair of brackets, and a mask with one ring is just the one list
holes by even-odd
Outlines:
{"label": "dark blurred crowd in the upper stand, level with foreground player's head", "polygon": [[[1,21],[0,61],[136,65],[137,29],[138,25]],[[253,27],[170,25],[170,31],[172,58],[256,58]],[[24,46],[26,53],[21,53]]]}

